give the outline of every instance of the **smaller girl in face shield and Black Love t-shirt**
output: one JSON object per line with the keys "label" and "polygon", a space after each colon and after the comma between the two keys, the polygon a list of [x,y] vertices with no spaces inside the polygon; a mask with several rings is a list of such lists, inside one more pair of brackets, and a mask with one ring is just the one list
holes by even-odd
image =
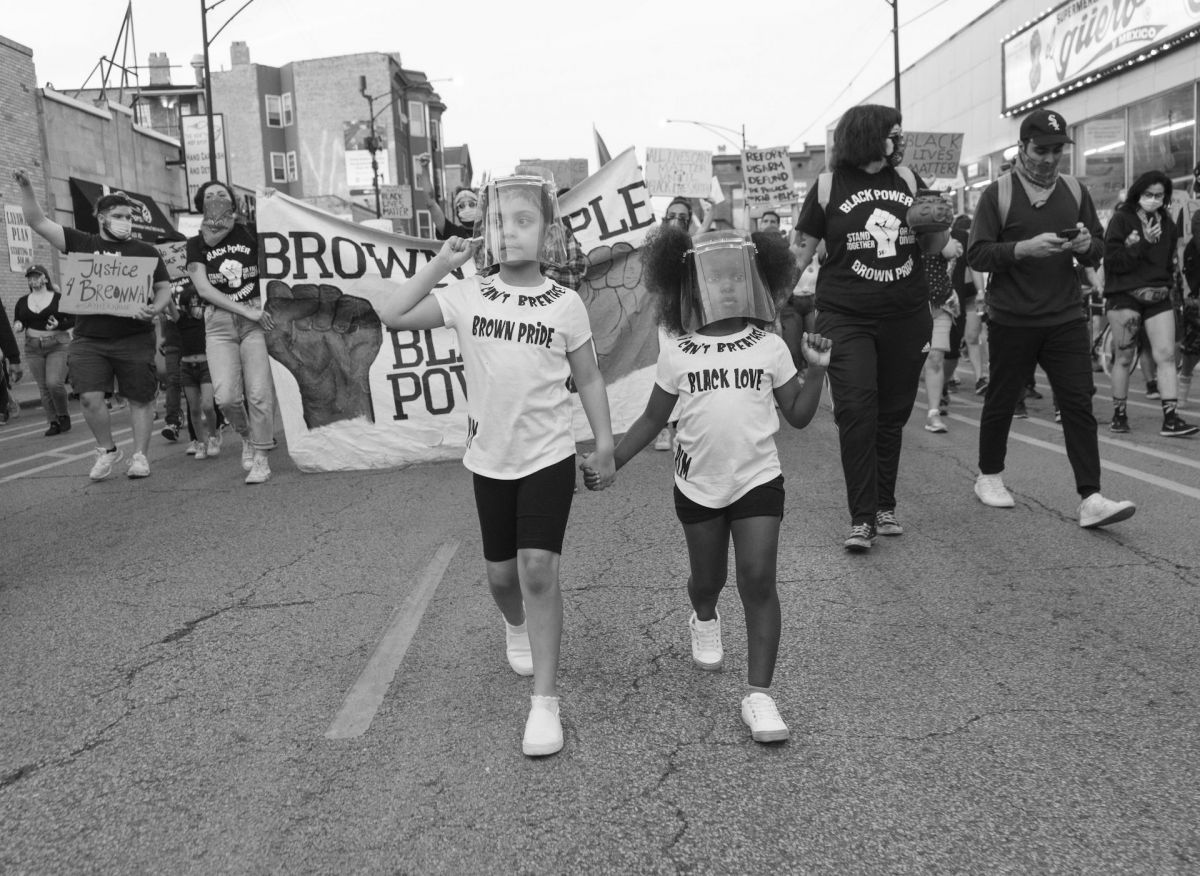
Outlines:
{"label": "smaller girl in face shield and Black Love t-shirt", "polygon": [[[617,446],[616,464],[620,468],[653,440],[678,402],[674,503],[691,565],[692,661],[715,671],[724,660],[716,600],[732,535],[750,652],[742,720],[756,742],[781,742],[787,725],[768,692],[779,650],[775,559],[784,516],[775,404],[797,428],[809,424],[832,344],[820,335],[803,336],[809,377],[802,386],[787,344],[766,330],[775,296],[791,290],[794,270],[778,235],[755,234],[751,242],[713,232],[692,239],[664,226],[643,248],[642,264],[670,338],[659,353],[649,402]],[[605,481],[593,468],[586,457],[588,488]]]}

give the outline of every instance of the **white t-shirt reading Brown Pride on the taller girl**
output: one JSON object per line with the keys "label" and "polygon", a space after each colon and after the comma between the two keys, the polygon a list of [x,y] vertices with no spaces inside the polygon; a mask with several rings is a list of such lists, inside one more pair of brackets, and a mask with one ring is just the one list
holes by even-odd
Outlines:
{"label": "white t-shirt reading Brown Pride on the taller girl", "polygon": [[433,294],[458,336],[467,372],[463,464],[515,480],[571,456],[566,354],[592,338],[578,293],[550,280],[509,286],[492,276],[467,277]]}

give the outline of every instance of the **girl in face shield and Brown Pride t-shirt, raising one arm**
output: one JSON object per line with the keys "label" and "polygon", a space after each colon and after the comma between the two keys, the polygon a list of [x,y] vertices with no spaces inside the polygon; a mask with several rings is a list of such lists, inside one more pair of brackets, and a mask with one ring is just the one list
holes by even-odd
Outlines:
{"label": "girl in face shield and Brown Pride t-shirt, raising one arm", "polygon": [[[568,378],[595,436],[599,487],[614,474],[608,396],[583,301],[542,275],[544,265],[560,266],[566,258],[552,184],[539,176],[493,180],[480,210],[482,239],[449,239],[398,289],[378,281],[386,292],[376,306],[391,329],[445,325],[458,335],[468,398],[463,464],[474,473],[487,581],[504,616],[509,664],[533,676],[522,751],[552,755],[563,746],[558,564],[575,491]],[[498,265],[499,272],[434,292],[476,251],[481,270]]]}

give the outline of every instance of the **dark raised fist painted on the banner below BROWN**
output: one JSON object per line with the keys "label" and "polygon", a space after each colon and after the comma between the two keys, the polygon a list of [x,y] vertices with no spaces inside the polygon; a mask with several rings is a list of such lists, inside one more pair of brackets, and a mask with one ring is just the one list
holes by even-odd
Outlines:
{"label": "dark raised fist painted on the banner below BROWN", "polygon": [[275,328],[266,350],[300,386],[308,428],[366,416],[371,407],[371,364],[383,346],[383,325],[371,302],[343,295],[336,286],[266,284],[266,312]]}

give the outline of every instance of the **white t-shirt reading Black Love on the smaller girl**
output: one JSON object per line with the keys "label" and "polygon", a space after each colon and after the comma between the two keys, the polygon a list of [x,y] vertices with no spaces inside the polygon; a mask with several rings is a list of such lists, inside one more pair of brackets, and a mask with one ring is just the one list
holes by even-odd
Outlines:
{"label": "white t-shirt reading Black Love on the smaller girl", "polygon": [[755,325],[662,344],[655,382],[679,396],[679,492],[706,508],[725,508],[781,474],[774,391],[793,377],[787,344]]}

